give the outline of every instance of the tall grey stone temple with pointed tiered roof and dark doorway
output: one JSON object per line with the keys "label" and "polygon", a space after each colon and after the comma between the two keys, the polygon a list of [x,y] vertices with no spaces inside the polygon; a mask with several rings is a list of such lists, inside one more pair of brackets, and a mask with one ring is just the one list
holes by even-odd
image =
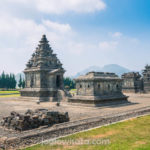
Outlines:
{"label": "tall grey stone temple with pointed tiered roof and dark doorway", "polygon": [[25,89],[21,96],[40,101],[57,100],[59,90],[64,89],[65,70],[49,45],[45,35],[26,65]]}

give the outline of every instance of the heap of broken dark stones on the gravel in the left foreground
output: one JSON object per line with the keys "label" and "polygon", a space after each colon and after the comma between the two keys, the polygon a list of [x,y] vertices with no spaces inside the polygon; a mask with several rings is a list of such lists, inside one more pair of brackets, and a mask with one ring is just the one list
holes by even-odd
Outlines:
{"label": "heap of broken dark stones on the gravel in the left foreground", "polygon": [[48,111],[47,109],[27,110],[25,114],[15,111],[10,116],[4,117],[1,125],[14,130],[25,131],[40,126],[52,126],[54,124],[68,122],[68,112]]}

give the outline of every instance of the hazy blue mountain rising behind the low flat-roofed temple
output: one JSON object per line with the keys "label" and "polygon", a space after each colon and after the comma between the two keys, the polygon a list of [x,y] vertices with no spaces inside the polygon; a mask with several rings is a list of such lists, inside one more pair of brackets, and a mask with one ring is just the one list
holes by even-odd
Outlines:
{"label": "hazy blue mountain rising behind the low flat-roofed temple", "polygon": [[99,72],[113,72],[116,73],[118,76],[121,76],[123,73],[130,72],[131,70],[122,67],[117,64],[110,64],[110,65],[105,65],[103,67],[98,67],[98,66],[91,66],[83,71],[78,72],[74,78],[77,78],[80,75],[85,75],[86,73],[90,71],[99,71]]}

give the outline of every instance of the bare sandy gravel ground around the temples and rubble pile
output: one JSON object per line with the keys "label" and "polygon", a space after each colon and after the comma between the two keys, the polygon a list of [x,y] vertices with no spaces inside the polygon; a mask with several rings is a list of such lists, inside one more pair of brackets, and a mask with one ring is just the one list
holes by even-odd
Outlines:
{"label": "bare sandy gravel ground around the temples and rubble pile", "polygon": [[[35,101],[21,100],[20,97],[15,98],[0,98],[0,120],[8,116],[11,111],[23,113],[27,109],[46,108],[49,110],[69,112],[70,121],[82,120],[86,118],[92,118],[96,116],[105,116],[111,114],[119,114],[133,109],[139,109],[143,107],[150,107],[150,94],[126,94],[129,96],[130,103],[118,104],[105,107],[85,107],[81,105],[68,104],[66,102],[61,103],[59,107],[54,102],[45,102],[36,104]],[[36,129],[38,130],[38,129]],[[0,127],[1,137],[14,137],[20,136],[22,133]]]}

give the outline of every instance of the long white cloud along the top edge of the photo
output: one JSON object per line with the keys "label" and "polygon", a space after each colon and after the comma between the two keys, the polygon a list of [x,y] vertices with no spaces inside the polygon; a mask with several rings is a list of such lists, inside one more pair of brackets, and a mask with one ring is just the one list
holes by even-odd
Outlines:
{"label": "long white cloud along the top edge of the photo", "polygon": [[106,8],[103,0],[6,0],[32,6],[40,12],[48,14],[62,14],[66,12],[91,13]]}

